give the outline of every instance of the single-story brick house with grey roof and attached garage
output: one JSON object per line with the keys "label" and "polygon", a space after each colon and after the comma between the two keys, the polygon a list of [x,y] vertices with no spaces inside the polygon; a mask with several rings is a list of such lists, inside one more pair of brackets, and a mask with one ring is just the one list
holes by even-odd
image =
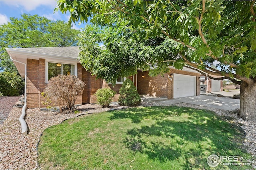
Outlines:
{"label": "single-story brick house with grey roof and attached garage", "polygon": [[[26,77],[25,96],[28,108],[46,107],[42,104],[44,98],[41,92],[44,91],[48,80],[58,74],[76,75],[86,84],[76,104],[96,103],[93,94],[104,87],[116,91],[114,101],[117,101],[119,89],[126,79],[118,78],[114,87],[103,79],[96,80],[95,76],[91,76],[79,63],[79,47],[6,48],[6,51],[20,75]],[[127,78],[134,82],[139,94],[173,99],[200,95],[200,75],[199,72],[188,68],[177,70],[170,67],[170,72],[164,74],[164,77],[150,77],[148,71],[138,70],[136,75]]]}

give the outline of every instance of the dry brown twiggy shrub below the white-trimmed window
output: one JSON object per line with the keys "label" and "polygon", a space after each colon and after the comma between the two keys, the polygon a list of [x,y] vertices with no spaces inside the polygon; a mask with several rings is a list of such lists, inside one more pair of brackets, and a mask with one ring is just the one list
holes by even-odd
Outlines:
{"label": "dry brown twiggy shrub below the white-trimmed window", "polygon": [[42,92],[46,98],[44,104],[56,103],[60,112],[74,113],[76,98],[82,95],[84,85],[84,82],[74,75],[53,77]]}

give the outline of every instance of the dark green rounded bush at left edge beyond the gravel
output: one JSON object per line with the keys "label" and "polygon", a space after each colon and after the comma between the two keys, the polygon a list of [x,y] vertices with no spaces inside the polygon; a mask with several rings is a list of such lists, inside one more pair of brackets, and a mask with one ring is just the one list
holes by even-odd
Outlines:
{"label": "dark green rounded bush at left edge beyond the gravel", "polygon": [[18,91],[3,76],[0,76],[0,92],[3,96],[19,96]]}

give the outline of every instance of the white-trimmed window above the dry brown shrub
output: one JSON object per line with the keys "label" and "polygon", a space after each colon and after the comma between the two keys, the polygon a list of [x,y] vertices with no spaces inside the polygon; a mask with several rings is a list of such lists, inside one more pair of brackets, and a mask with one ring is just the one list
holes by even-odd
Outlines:
{"label": "white-trimmed window above the dry brown shrub", "polygon": [[62,75],[75,75],[75,65],[74,64],[64,64],[64,63],[52,63],[47,62],[47,75],[46,82],[52,77],[59,74]]}

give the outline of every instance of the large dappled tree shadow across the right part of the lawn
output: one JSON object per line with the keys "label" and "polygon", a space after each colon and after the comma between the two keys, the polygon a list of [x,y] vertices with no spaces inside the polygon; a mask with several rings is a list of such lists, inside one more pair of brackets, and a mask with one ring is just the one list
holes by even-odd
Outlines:
{"label": "large dappled tree shadow across the right part of the lawn", "polygon": [[[187,114],[181,116],[181,113]],[[128,130],[124,141],[127,148],[146,154],[152,160],[179,160],[184,169],[209,169],[206,159],[210,154],[241,153],[237,149],[241,128],[223,121],[210,111],[186,107],[142,107],[138,111],[127,109],[114,112],[110,117],[125,118],[136,124],[143,119],[156,120],[152,125]]]}

